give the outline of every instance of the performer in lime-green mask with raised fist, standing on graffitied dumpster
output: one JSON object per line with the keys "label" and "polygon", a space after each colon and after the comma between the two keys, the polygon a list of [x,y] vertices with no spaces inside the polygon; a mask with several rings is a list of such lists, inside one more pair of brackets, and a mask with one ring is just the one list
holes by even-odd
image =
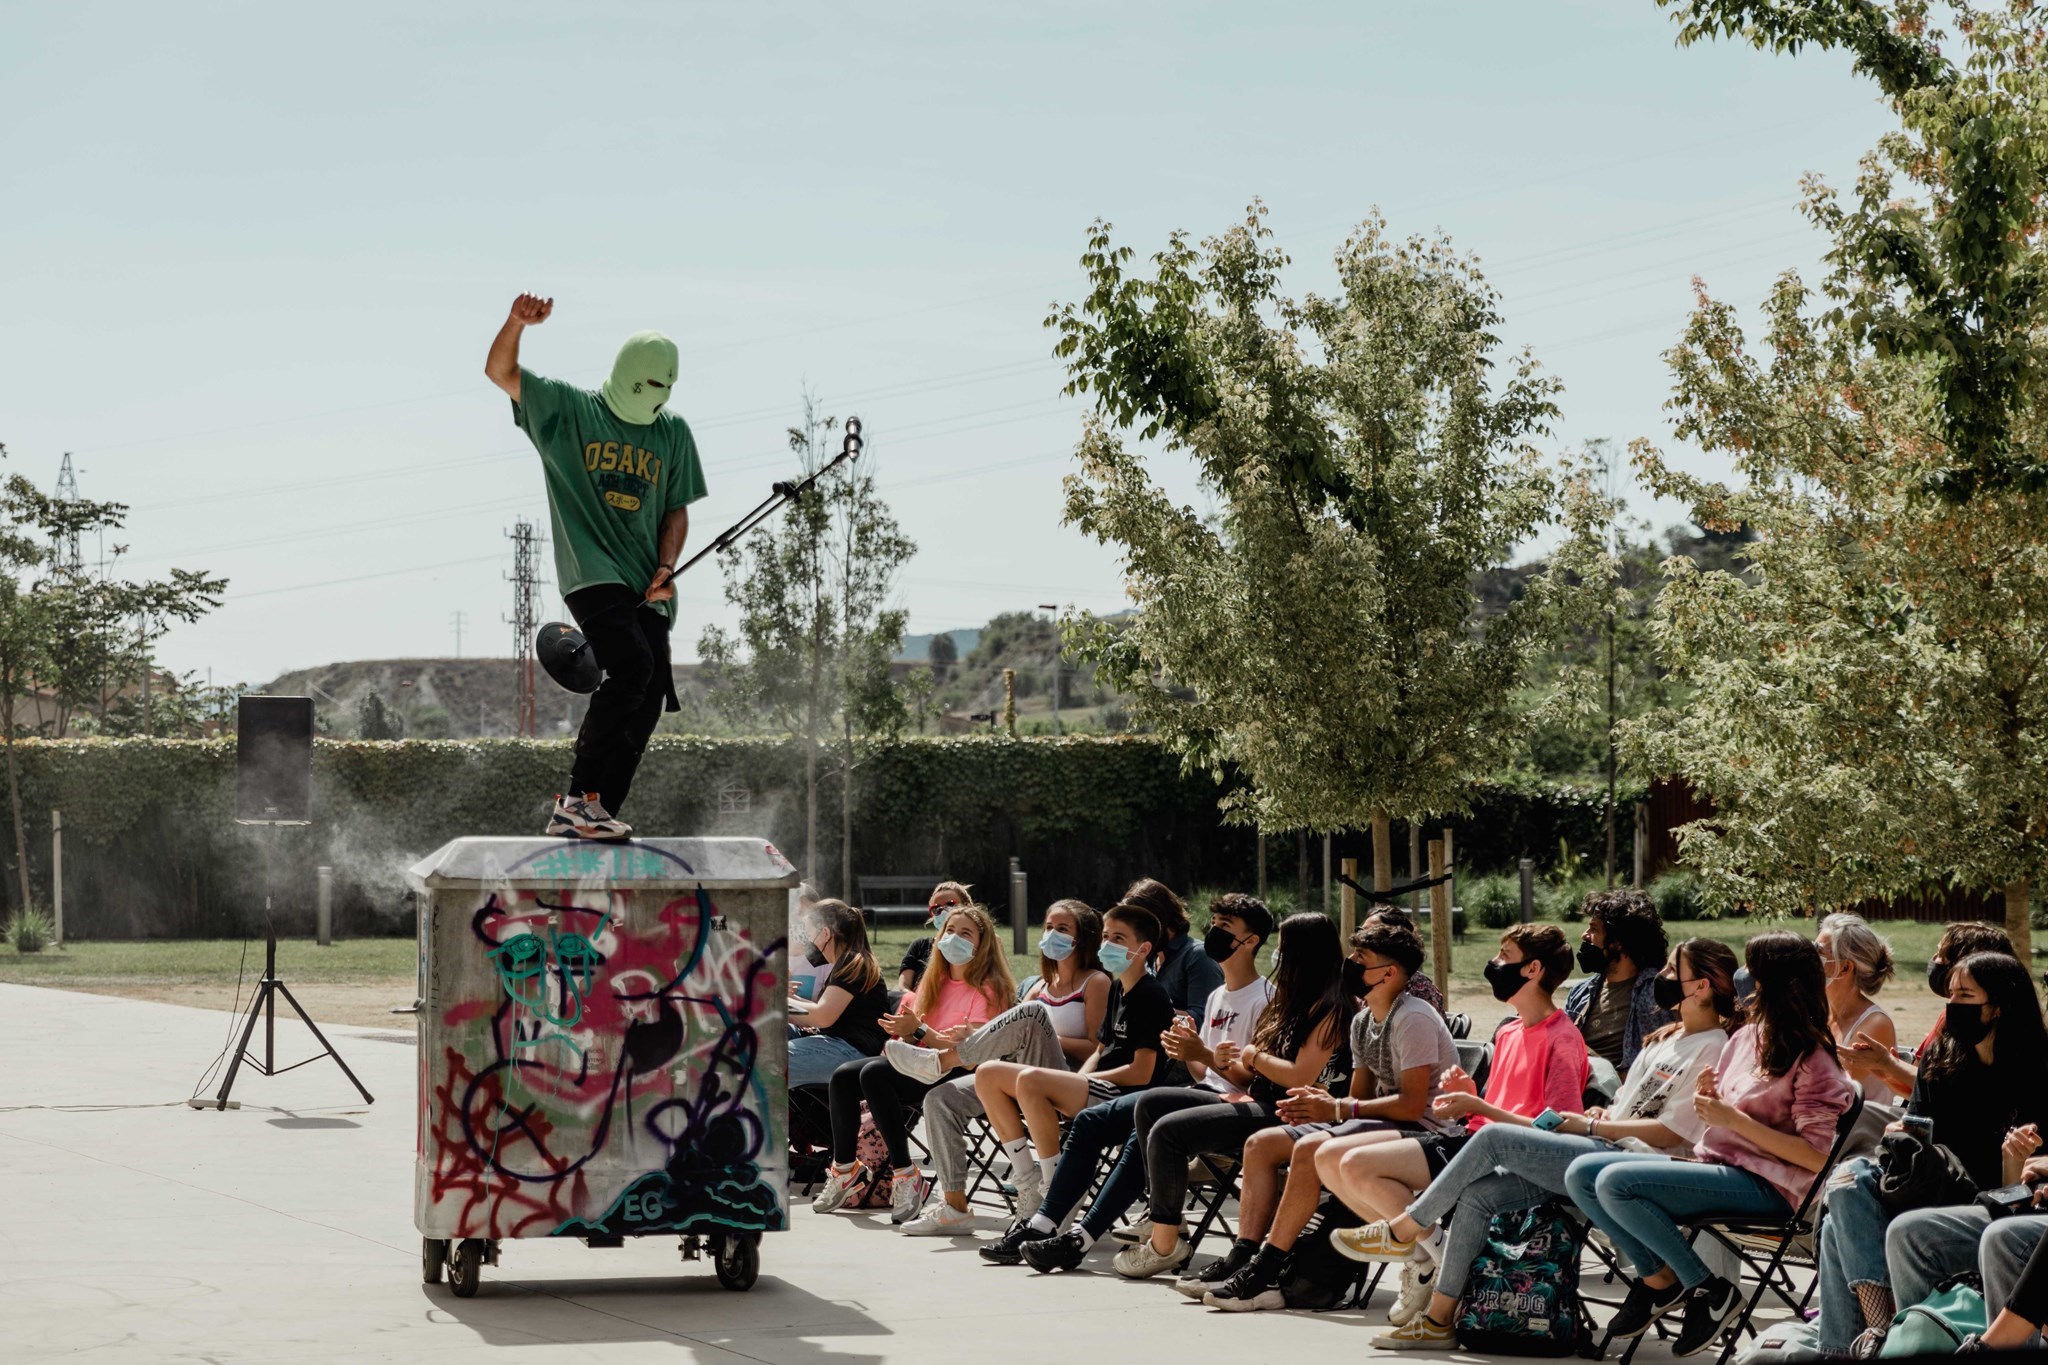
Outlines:
{"label": "performer in lime-green mask with raised fist, standing on graffitied dumpster", "polygon": [[618,819],[647,739],[666,710],[682,710],[668,661],[676,618],[670,581],[705,495],[696,440],[662,411],[676,385],[676,344],[635,332],[596,391],[543,379],[518,362],[518,338],[555,311],[520,295],[492,342],[483,372],[512,399],[512,422],[541,452],[555,532],[555,583],[590,641],[604,681],[575,733],[569,788],[547,833],[627,839]]}

